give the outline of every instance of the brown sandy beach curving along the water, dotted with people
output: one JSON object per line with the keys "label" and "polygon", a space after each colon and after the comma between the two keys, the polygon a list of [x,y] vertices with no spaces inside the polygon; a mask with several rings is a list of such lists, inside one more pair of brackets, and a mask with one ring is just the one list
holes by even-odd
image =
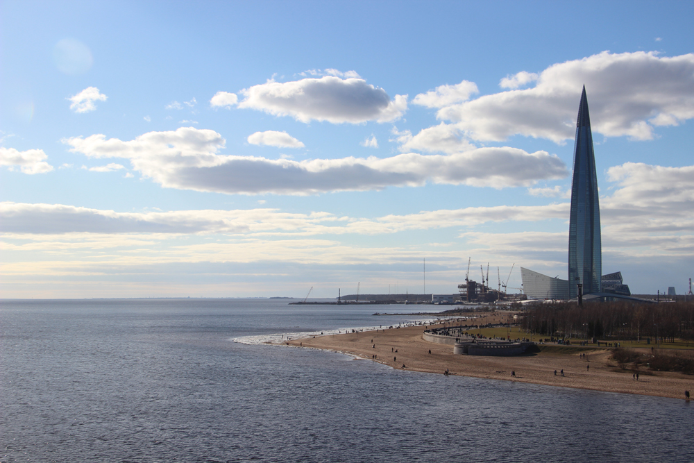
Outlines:
{"label": "brown sandy beach curving along the water, dotted with people", "polygon": [[[486,320],[480,319],[480,323]],[[682,399],[685,389],[694,391],[694,376],[682,373],[642,370],[638,381],[634,380],[631,370],[620,369],[609,360],[608,349],[548,347],[540,353],[518,357],[454,355],[453,346],[425,341],[423,331],[423,326],[411,326],[294,339],[288,344],[347,353],[396,369],[403,369],[404,365],[407,370],[427,373],[443,374],[448,369],[450,374],[459,376]],[[585,359],[581,358],[582,353],[586,354]],[[515,371],[515,377],[511,371]]]}

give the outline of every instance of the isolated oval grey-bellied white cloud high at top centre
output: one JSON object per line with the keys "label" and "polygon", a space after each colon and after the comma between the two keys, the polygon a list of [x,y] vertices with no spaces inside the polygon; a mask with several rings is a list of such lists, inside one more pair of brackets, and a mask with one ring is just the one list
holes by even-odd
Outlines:
{"label": "isolated oval grey-bellied white cloud high at top centre", "polygon": [[291,116],[305,123],[388,122],[407,110],[407,95],[396,95],[391,100],[385,90],[360,78],[323,76],[285,83],[267,81],[242,90],[242,94],[244,100],[238,103],[239,108]]}

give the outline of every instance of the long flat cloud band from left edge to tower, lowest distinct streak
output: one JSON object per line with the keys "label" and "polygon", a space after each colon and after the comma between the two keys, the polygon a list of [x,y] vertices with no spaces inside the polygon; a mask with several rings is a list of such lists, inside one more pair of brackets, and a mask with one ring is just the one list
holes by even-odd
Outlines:
{"label": "long flat cloud band from left edge to tower, lowest distinct streak", "polygon": [[[258,201],[264,204],[265,200]],[[178,210],[115,212],[62,204],[0,203],[2,233],[298,233],[377,235],[403,230],[471,226],[502,221],[541,221],[564,217],[568,204],[496,206],[433,210],[375,219],[337,217],[262,208],[249,210]]]}

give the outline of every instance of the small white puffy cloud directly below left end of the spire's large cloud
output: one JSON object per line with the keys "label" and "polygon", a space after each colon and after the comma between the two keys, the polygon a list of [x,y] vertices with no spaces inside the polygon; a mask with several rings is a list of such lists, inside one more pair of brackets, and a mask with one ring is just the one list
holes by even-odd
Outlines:
{"label": "small white puffy cloud directly below left end of the spire's large cloud", "polygon": [[410,131],[398,132],[393,127],[394,140],[400,143],[400,151],[427,151],[428,153],[459,153],[475,149],[475,146],[465,140],[464,134],[455,125],[444,124],[423,128],[417,135]]}

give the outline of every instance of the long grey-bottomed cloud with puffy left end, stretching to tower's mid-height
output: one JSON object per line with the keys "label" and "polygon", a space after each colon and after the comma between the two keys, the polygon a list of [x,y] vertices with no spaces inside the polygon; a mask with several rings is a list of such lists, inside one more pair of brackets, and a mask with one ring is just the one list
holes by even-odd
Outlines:
{"label": "long grey-bottomed cloud with puffy left end, stretching to tower's mid-height", "polygon": [[92,158],[127,158],[133,169],[163,187],[227,194],[316,194],[421,186],[426,182],[480,187],[529,186],[564,178],[566,165],[545,151],[478,148],[452,155],[403,153],[391,158],[294,161],[221,155],[225,140],[214,131],[181,127],[124,142],[105,135],[63,140]]}

